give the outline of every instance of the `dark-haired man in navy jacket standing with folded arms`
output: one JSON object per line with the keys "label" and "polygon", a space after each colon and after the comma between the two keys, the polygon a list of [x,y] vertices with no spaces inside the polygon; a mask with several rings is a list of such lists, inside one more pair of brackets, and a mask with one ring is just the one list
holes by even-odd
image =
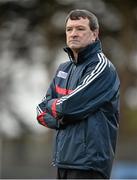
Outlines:
{"label": "dark-haired man in navy jacket standing with folded arms", "polygon": [[96,16],[73,10],[66,18],[65,51],[38,105],[40,124],[56,129],[53,164],[58,179],[109,178],[119,117],[119,78],[98,38]]}

